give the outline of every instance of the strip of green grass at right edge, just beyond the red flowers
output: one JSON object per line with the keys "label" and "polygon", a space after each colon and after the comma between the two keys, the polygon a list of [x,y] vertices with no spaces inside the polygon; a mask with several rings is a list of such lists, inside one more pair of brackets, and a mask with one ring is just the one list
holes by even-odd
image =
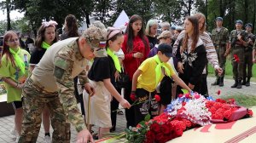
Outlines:
{"label": "strip of green grass at right edge, just beyond the red flowers", "polygon": [[222,97],[221,99],[235,99],[238,106],[245,106],[247,108],[256,106],[256,96],[255,95],[245,95],[245,94],[234,94],[230,96]]}

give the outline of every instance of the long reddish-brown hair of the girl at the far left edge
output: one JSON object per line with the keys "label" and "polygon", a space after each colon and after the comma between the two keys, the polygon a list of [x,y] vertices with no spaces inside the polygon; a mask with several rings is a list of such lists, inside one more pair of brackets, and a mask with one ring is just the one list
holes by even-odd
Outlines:
{"label": "long reddish-brown hair of the girl at the far left edge", "polygon": [[10,60],[12,63],[12,66],[15,66],[15,58],[13,54],[9,52],[9,46],[6,43],[8,42],[9,39],[13,38],[15,35],[18,37],[15,31],[6,31],[3,36],[3,54],[6,54],[6,60]]}

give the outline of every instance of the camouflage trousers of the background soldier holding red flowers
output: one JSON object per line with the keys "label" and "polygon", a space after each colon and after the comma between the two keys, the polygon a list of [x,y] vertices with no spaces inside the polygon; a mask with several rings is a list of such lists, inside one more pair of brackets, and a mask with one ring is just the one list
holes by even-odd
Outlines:
{"label": "camouflage trousers of the background soldier holding red flowers", "polygon": [[[238,56],[239,61],[236,61],[234,55]],[[241,80],[243,76],[243,63],[244,63],[244,49],[234,48],[231,54],[232,66],[233,66],[233,78],[235,80]]]}

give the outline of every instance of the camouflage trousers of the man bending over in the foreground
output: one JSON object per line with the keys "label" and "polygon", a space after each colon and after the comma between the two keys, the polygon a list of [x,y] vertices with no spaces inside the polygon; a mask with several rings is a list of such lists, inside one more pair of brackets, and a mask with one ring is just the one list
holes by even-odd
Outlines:
{"label": "camouflage trousers of the man bending over in the foreground", "polygon": [[47,93],[29,77],[22,89],[22,95],[24,117],[19,143],[37,142],[44,106],[49,108],[51,126],[54,130],[52,142],[70,142],[70,123],[67,121],[58,93]]}

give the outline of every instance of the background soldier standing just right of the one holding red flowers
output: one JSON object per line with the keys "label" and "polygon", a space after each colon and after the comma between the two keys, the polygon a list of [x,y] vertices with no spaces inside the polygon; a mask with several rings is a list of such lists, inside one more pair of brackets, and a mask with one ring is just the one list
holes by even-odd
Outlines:
{"label": "background soldier standing just right of the one holding red flowers", "polygon": [[243,67],[243,79],[242,85],[250,86],[250,79],[253,76],[253,43],[255,42],[255,36],[252,33],[253,25],[251,23],[246,24],[247,36],[247,47],[245,48],[245,59]]}

